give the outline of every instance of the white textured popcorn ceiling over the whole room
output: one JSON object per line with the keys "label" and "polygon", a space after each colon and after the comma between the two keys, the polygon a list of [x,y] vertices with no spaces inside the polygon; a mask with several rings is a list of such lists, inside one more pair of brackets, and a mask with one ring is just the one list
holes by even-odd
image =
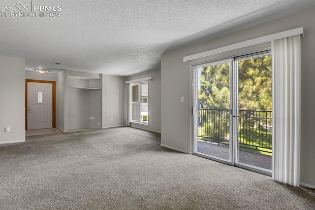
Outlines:
{"label": "white textured popcorn ceiling over the whole room", "polygon": [[[1,0],[0,10],[18,1]],[[61,17],[0,17],[0,55],[26,58],[27,70],[130,75],[160,68],[164,52],[314,7],[315,0],[32,0],[32,5],[61,5]]]}

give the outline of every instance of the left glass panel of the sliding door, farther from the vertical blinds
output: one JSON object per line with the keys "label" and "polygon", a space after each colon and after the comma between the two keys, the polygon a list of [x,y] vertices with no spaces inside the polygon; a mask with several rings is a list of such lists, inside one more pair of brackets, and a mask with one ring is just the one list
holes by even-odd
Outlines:
{"label": "left glass panel of the sliding door, farther from the vertical blinds", "polygon": [[231,162],[231,60],[197,70],[197,138],[195,152]]}

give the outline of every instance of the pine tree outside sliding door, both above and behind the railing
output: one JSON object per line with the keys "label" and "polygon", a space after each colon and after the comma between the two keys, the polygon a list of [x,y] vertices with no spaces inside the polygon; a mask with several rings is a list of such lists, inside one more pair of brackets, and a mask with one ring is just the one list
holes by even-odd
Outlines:
{"label": "pine tree outside sliding door, both above and behind the railing", "polygon": [[[272,110],[271,91],[271,56],[262,56],[238,61],[238,106],[239,110]],[[207,109],[230,108],[230,63],[201,68],[200,88],[198,100]],[[225,111],[228,112],[228,111]],[[240,112],[249,117],[254,112]],[[256,113],[256,112],[255,112]],[[260,112],[257,112],[260,113]],[[261,112],[262,113],[262,112]],[[228,141],[229,115],[223,111],[214,110],[203,112],[203,129],[205,134],[214,141]],[[259,116],[255,116],[259,117]],[[261,117],[261,116],[260,116]],[[255,119],[247,121],[250,125],[240,126],[258,127]],[[218,123],[220,121],[220,124]],[[221,127],[226,127],[223,130]]]}

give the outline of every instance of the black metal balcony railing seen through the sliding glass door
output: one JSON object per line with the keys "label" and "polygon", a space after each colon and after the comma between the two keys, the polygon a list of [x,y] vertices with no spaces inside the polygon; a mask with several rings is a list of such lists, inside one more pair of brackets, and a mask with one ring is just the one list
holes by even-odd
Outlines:
{"label": "black metal balcony railing seen through the sliding glass door", "polygon": [[[239,110],[239,149],[266,152],[272,149],[272,111]],[[230,144],[230,110],[198,109],[198,140],[210,141],[221,146]]]}

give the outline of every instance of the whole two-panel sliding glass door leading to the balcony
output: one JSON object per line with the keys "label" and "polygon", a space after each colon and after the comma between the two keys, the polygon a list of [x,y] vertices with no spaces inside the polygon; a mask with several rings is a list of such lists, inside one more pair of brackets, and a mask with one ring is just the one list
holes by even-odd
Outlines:
{"label": "whole two-panel sliding glass door leading to the balcony", "polygon": [[271,175],[270,53],[194,66],[193,153]]}

